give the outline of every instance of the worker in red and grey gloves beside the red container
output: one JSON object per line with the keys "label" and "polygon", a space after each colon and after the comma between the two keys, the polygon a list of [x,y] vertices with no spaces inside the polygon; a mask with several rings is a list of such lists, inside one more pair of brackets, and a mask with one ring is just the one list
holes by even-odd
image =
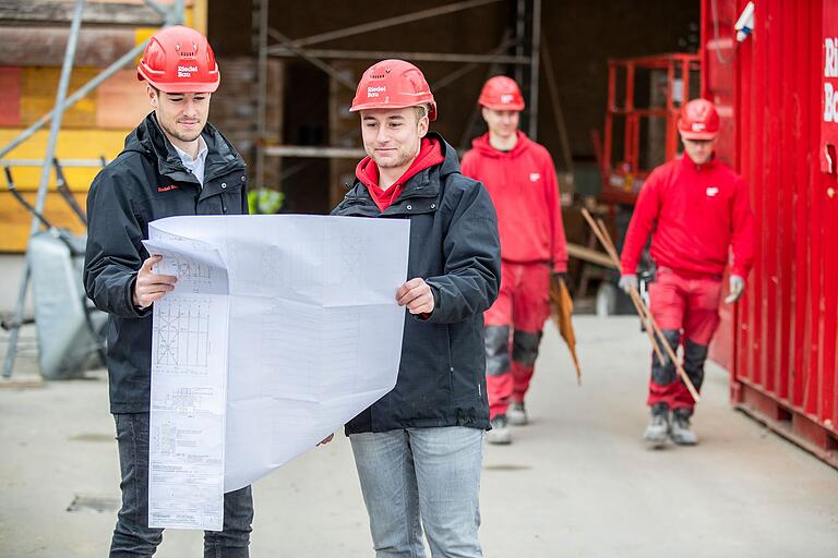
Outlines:
{"label": "worker in red and grey gloves beside the red container", "polygon": [[[657,277],[649,286],[650,311],[673,351],[683,343],[684,371],[701,389],[731,247],[727,303],[744,292],[754,226],[745,181],[715,158],[719,116],[713,102],[684,105],[678,129],[684,155],[655,169],[641,190],[623,244],[620,287],[636,286],[637,264],[651,235]],[[651,418],[644,437],[649,442],[661,446],[667,436],[680,445],[697,442],[690,426],[695,401],[669,357],[660,362],[653,354],[647,404]]]}

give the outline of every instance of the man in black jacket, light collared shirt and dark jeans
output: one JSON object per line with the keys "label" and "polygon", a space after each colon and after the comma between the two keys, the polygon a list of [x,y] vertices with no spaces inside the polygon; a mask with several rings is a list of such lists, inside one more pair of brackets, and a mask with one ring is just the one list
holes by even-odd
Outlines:
{"label": "man in black jacket, light collared shirt and dark jeans", "polygon": [[[137,68],[154,109],[125,138],[123,151],[96,177],[84,284],[110,315],[108,378],[122,473],[122,507],[111,557],[152,556],[163,530],[148,527],[148,418],[152,312],[176,278],[153,271],[160,256],[142,244],[148,222],[177,215],[247,214],[244,161],[206,122],[219,83],[206,38],[188,27],[152,37]],[[250,487],[228,493],[224,530],[206,532],[204,556],[249,555]]]}

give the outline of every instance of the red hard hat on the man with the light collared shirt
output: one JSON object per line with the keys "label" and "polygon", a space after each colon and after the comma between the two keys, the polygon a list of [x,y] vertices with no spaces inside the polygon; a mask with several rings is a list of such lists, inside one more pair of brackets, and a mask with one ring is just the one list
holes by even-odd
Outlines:
{"label": "red hard hat on the man with the light collared shirt", "polygon": [[136,78],[166,93],[213,93],[222,75],[206,37],[176,25],[151,38],[136,66]]}

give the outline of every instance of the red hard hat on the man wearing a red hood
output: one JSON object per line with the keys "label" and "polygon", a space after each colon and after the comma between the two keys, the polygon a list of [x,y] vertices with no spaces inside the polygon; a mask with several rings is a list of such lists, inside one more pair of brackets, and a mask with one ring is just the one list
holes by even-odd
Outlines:
{"label": "red hard hat on the man wearing a red hood", "polygon": [[436,101],[422,72],[410,62],[391,59],[376,62],[363,72],[349,111],[420,105],[428,105],[428,118],[436,120]]}

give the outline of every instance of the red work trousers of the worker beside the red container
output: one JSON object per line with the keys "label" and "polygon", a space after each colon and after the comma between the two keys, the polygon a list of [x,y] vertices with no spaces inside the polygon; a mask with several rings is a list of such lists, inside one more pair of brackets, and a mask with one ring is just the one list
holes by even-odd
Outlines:
{"label": "red work trousers of the worker beside the red container", "polygon": [[[649,298],[651,314],[669,345],[678,353],[683,343],[684,372],[701,390],[707,348],[719,327],[721,277],[659,268],[657,280],[649,286]],[[647,404],[692,410],[695,405],[693,397],[678,377],[674,363],[666,351],[663,354],[665,362],[660,362],[654,352],[651,355]]]}

